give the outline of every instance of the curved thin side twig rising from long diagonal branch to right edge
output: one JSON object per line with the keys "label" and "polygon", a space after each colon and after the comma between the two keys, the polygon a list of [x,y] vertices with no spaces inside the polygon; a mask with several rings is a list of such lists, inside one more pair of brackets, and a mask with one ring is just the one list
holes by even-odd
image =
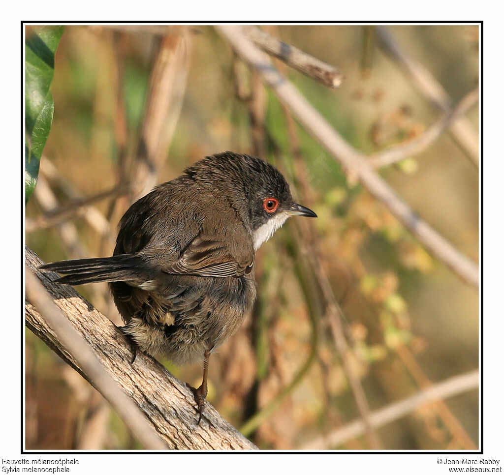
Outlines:
{"label": "curved thin side twig rising from long diagonal branch to right edge", "polygon": [[434,142],[448,127],[452,125],[462,115],[465,115],[477,103],[479,98],[479,88],[473,89],[466,94],[461,101],[450,112],[440,117],[419,137],[406,144],[390,147],[389,149],[371,155],[368,162],[375,168],[399,162],[405,158],[423,152]]}

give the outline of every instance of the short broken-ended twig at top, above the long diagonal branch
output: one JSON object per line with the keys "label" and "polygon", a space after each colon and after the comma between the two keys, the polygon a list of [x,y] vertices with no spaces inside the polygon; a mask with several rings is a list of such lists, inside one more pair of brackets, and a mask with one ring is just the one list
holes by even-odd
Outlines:
{"label": "short broken-ended twig at top, above the long diagonal branch", "polygon": [[245,36],[250,41],[253,41],[256,46],[259,46],[268,54],[281,59],[305,76],[330,88],[337,88],[341,85],[343,74],[337,67],[331,66],[295,46],[276,39],[256,26],[244,26],[242,29]]}

